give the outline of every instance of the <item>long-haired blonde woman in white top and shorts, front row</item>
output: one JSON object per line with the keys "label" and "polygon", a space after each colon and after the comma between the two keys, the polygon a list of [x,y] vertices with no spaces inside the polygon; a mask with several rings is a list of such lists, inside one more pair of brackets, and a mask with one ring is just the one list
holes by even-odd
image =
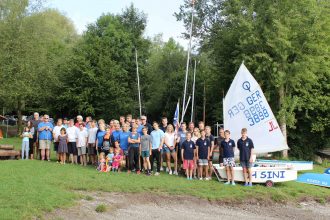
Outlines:
{"label": "long-haired blonde woman in white top and shorts, front row", "polygon": [[172,175],[172,169],[171,169],[171,156],[174,160],[174,172],[173,174],[178,175],[178,161],[177,161],[177,154],[176,154],[176,136],[174,132],[173,125],[169,124],[167,125],[166,132],[164,135],[164,153],[166,154],[166,163],[167,168],[169,171],[169,174]]}

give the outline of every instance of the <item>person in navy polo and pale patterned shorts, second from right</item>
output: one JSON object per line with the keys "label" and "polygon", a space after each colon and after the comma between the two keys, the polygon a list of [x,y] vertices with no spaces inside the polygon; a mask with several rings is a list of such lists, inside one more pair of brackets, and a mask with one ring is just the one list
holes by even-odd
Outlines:
{"label": "person in navy polo and pale patterned shorts, second from right", "polygon": [[234,166],[235,166],[235,158],[234,158],[234,149],[235,149],[235,141],[230,139],[230,131],[225,130],[225,140],[221,142],[221,148],[223,152],[223,165],[226,167],[227,174],[227,182],[226,185],[231,184],[235,186],[234,181]]}

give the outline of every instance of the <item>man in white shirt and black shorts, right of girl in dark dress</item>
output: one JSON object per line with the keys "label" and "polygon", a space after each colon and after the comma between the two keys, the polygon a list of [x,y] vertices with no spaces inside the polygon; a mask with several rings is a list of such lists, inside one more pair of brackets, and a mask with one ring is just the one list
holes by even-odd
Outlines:
{"label": "man in white shirt and black shorts, right of girl in dark dress", "polygon": [[74,126],[74,120],[70,119],[69,127],[66,129],[68,135],[68,153],[70,156],[71,164],[78,164],[77,156],[77,141],[78,141],[78,128]]}

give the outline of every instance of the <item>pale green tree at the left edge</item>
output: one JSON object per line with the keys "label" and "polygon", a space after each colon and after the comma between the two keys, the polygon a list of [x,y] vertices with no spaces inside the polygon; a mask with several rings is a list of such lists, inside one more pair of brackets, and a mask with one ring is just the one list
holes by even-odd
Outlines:
{"label": "pale green tree at the left edge", "polygon": [[0,97],[17,110],[19,125],[26,105],[51,95],[58,55],[75,37],[66,17],[38,1],[30,3],[7,0],[0,6]]}

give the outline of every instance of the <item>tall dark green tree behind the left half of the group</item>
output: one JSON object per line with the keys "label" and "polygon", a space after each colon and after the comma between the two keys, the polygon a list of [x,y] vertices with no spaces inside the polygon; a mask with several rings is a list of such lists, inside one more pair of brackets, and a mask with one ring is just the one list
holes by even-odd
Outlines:
{"label": "tall dark green tree behind the left half of the group", "polygon": [[135,48],[143,71],[149,47],[142,36],[145,21],[144,14],[131,6],[123,14],[102,15],[89,25],[60,70],[55,108],[62,114],[104,119],[136,113]]}

